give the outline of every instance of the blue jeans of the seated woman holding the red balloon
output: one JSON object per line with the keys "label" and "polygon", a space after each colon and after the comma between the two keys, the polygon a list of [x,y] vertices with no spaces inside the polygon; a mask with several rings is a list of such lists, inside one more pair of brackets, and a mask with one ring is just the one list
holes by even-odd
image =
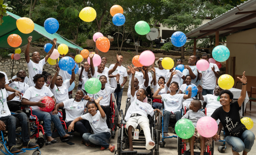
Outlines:
{"label": "blue jeans of the seated woman holding the red balloon", "polygon": [[32,110],[32,114],[35,115],[39,120],[44,122],[44,129],[46,136],[51,136],[51,121],[57,128],[58,134],[63,137],[66,135],[63,126],[60,122],[58,115],[53,115],[53,111],[45,112],[41,110]]}

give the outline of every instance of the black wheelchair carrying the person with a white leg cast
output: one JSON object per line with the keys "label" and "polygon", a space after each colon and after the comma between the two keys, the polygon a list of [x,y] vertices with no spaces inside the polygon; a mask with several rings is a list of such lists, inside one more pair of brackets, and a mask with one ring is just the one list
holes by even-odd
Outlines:
{"label": "black wheelchair carrying the person with a white leg cast", "polygon": [[[129,99],[129,98],[128,98]],[[150,115],[147,116],[147,118],[149,118],[149,127],[150,127],[150,131],[151,131],[151,138],[155,143],[155,147],[152,148],[150,151],[151,152],[138,152],[138,151],[123,151],[125,149],[129,148],[129,139],[128,139],[128,135],[127,135],[127,129],[126,129],[126,122],[124,121],[124,117],[127,113],[127,110],[131,104],[131,102],[127,101],[126,104],[126,108],[125,108],[125,114],[123,115],[123,111],[120,109],[121,112],[121,129],[118,130],[118,139],[117,139],[117,150],[115,151],[115,155],[143,155],[143,154],[147,154],[147,155],[159,155],[159,134],[157,132],[156,129],[156,111],[154,111],[154,115],[153,117],[151,117]],[[152,106],[152,99],[148,98],[148,102],[151,106]],[[138,125],[137,127],[138,129],[140,129],[141,127]],[[134,133],[132,133],[134,134]],[[145,146],[146,145],[146,139],[145,139],[145,135],[143,133],[143,130],[140,131],[139,133],[139,139],[134,139],[132,140],[133,145],[134,146]],[[135,150],[146,150],[145,147],[134,147]]]}

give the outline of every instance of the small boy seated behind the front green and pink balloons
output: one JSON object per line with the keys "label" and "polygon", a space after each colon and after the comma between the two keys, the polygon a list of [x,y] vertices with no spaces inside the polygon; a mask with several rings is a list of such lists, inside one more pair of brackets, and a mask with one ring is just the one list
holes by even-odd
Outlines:
{"label": "small boy seated behind the front green and pink balloons", "polygon": [[199,138],[199,140],[200,140],[200,145],[201,145],[200,155],[203,155],[203,151],[205,150],[205,137],[199,135],[198,131],[196,130],[196,123],[198,122],[198,120],[200,118],[206,116],[205,113],[203,113],[203,111],[199,111],[199,109],[201,109],[201,107],[202,107],[201,101],[194,99],[191,101],[191,103],[189,105],[189,111],[183,117],[181,117],[181,119],[187,118],[187,119],[191,120],[195,126],[195,133],[189,139],[191,155],[194,154],[194,141],[196,138]]}

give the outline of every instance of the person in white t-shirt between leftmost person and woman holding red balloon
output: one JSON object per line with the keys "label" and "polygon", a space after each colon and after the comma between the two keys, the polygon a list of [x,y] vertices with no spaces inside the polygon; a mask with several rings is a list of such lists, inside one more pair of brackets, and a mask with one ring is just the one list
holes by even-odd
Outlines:
{"label": "person in white t-shirt between leftmost person and woman holding red balloon", "polygon": [[[9,87],[21,92],[24,92],[29,88],[28,84],[24,82],[26,77],[26,72],[24,70],[19,70],[17,73],[17,77],[15,79],[9,80]],[[13,92],[7,91],[9,95],[13,94]],[[19,105],[21,104],[21,99],[19,97],[14,97],[11,101],[7,101],[7,105],[10,111],[15,112],[19,110]]]}

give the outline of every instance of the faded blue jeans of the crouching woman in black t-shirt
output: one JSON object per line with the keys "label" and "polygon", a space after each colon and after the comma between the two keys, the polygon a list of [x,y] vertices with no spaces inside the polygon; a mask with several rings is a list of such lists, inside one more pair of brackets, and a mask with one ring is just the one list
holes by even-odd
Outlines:
{"label": "faded blue jeans of the crouching woman in black t-shirt", "polygon": [[244,131],[240,137],[225,137],[226,142],[228,143],[228,145],[232,146],[232,149],[235,152],[242,152],[243,150],[246,152],[250,152],[254,143],[254,139],[254,134],[249,130]]}

